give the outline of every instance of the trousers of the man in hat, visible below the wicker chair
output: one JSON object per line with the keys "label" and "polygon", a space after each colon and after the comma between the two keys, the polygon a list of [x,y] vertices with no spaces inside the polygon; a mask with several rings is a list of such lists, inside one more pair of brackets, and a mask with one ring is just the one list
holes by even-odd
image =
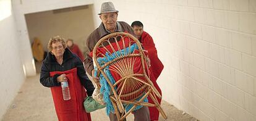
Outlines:
{"label": "trousers of the man in hat, visible below the wicker chair", "polygon": [[[134,121],[150,121],[150,114],[149,114],[148,107],[143,106],[142,108],[134,111],[133,114],[134,114]],[[116,114],[110,113],[109,120],[117,121]]]}

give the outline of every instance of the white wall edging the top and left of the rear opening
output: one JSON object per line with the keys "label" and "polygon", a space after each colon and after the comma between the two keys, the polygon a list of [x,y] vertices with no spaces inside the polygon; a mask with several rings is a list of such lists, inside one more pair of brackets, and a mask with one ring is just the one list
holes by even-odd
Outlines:
{"label": "white wall edging the top and left of the rear opening", "polygon": [[35,64],[31,50],[30,38],[28,37],[27,24],[25,22],[25,14],[35,12],[43,12],[47,10],[63,9],[74,6],[84,6],[92,4],[92,0],[14,0],[12,1],[13,10],[15,13],[15,22],[17,23],[17,35],[19,39],[20,54],[22,64],[25,66],[27,76],[36,74]]}

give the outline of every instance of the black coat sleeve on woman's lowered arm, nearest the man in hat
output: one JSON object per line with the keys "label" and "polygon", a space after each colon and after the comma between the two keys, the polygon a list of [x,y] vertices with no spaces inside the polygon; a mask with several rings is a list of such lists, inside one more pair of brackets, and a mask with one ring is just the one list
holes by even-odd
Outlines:
{"label": "black coat sleeve on woman's lowered arm, nearest the man in hat", "polygon": [[85,87],[88,96],[92,96],[94,86],[92,81],[87,77],[82,61],[75,55],[75,64],[77,66],[77,75],[79,76],[80,82]]}

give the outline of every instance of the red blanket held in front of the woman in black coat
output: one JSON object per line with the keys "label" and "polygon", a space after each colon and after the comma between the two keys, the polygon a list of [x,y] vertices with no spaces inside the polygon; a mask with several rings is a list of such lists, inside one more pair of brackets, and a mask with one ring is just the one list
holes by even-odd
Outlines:
{"label": "red blanket held in front of the woman in black coat", "polygon": [[51,77],[55,74],[66,74],[71,96],[70,100],[64,101],[61,86],[51,88],[58,119],[60,121],[91,121],[90,114],[86,113],[83,108],[83,99],[85,99],[87,95],[77,76],[77,69],[66,70],[64,72],[50,72]]}

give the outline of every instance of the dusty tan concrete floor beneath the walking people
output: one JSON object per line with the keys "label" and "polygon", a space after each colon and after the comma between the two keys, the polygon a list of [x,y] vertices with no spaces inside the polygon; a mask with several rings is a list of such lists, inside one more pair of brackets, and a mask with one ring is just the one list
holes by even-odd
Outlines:
{"label": "dusty tan concrete floor beneath the walking people", "polygon": [[[163,101],[162,107],[168,115],[167,120],[196,120],[188,114],[182,115],[182,111],[168,102]],[[109,120],[105,114],[105,109],[92,112],[91,115],[93,121]],[[2,120],[58,120],[51,91],[41,85],[39,75],[27,78]],[[127,120],[133,120],[133,115],[129,115]],[[163,117],[160,116],[160,120],[164,120]]]}

